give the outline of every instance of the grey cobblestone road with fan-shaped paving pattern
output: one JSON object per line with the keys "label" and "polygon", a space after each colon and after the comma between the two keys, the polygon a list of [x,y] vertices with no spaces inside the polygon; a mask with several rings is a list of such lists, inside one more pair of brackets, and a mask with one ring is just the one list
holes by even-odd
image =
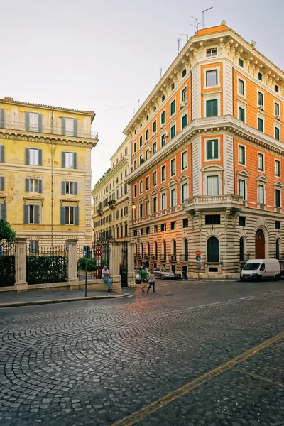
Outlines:
{"label": "grey cobblestone road with fan-shaped paving pattern", "polygon": [[1,426],[284,425],[284,282],[127,291],[0,310]]}

